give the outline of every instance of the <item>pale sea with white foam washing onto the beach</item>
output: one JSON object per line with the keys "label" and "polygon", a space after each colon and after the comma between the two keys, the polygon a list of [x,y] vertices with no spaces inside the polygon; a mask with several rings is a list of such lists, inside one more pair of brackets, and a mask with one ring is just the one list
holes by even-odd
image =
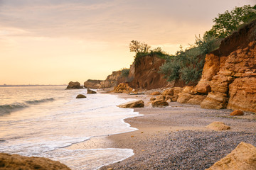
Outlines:
{"label": "pale sea with white foam washing onto the beach", "polygon": [[[87,98],[76,98],[84,94]],[[0,152],[47,157],[73,170],[99,169],[131,157],[132,149],[66,149],[93,137],[137,130],[124,123],[139,113],[117,105],[132,99],[87,94],[65,86],[0,87]]]}

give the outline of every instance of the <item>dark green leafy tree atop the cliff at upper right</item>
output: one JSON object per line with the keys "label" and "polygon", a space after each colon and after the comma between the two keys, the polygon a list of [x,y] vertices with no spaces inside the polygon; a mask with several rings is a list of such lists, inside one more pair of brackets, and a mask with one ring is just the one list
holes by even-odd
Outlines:
{"label": "dark green leafy tree atop the cliff at upper right", "polygon": [[225,13],[218,14],[218,18],[214,18],[213,28],[205,33],[215,38],[225,38],[231,35],[233,31],[245,23],[256,19],[256,5],[245,5],[242,7],[235,7],[232,11],[225,11]]}

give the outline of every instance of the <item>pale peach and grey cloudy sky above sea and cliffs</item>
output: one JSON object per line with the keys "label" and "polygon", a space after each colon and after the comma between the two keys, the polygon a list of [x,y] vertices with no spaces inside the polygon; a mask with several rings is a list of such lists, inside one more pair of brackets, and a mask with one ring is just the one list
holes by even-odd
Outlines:
{"label": "pale peach and grey cloudy sky above sea and cliffs", "polygon": [[129,68],[129,42],[175,54],[256,0],[0,0],[0,84],[68,84]]}

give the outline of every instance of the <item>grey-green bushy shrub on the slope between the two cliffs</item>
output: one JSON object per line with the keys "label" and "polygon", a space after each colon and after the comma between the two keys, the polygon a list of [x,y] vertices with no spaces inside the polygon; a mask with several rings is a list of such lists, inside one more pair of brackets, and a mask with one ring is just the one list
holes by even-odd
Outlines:
{"label": "grey-green bushy shrub on the slope between the two cliffs", "polygon": [[166,63],[160,67],[167,81],[182,79],[188,84],[197,82],[201,78],[206,54],[215,50],[220,44],[219,40],[210,37],[196,37],[196,42],[186,50],[179,50],[176,55],[169,56]]}

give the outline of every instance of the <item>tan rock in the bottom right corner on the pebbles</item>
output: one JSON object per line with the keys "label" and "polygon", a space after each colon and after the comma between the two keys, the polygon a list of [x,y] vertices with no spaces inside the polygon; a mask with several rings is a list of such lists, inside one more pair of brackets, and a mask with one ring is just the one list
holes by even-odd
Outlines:
{"label": "tan rock in the bottom right corner on the pebbles", "polygon": [[245,142],[240,144],[226,157],[206,170],[255,170],[256,147]]}

